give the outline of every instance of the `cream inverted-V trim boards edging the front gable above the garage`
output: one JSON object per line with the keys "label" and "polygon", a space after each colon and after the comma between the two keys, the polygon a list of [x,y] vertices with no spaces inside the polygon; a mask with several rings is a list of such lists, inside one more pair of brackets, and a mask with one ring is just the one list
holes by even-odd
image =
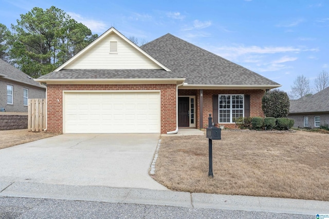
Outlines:
{"label": "cream inverted-V trim boards edging the front gable above the garage", "polygon": [[81,50],[78,54],[76,54],[75,56],[71,57],[70,59],[68,59],[67,62],[65,62],[63,65],[61,65],[59,68],[55,69],[54,71],[60,71],[62,69],[65,69],[66,66],[68,66],[70,63],[74,62],[78,57],[80,57],[82,54],[84,54],[87,50],[89,50],[90,48],[94,47],[96,44],[98,44],[98,42],[100,42],[103,38],[105,38],[106,36],[108,36],[111,33],[115,33],[117,34],[119,37],[121,37],[125,42],[129,43],[132,47],[134,47],[135,49],[137,49],[140,53],[142,53],[143,55],[145,55],[146,57],[148,57],[149,59],[151,59],[151,61],[153,61],[156,65],[158,65],[159,67],[161,67],[162,69],[165,69],[166,71],[171,71],[169,68],[167,68],[166,66],[162,65],[160,62],[158,62],[155,58],[153,58],[151,55],[149,55],[147,52],[145,52],[144,50],[142,50],[140,47],[138,47],[136,44],[134,44],[133,42],[131,42],[127,37],[125,37],[124,35],[122,35],[119,31],[117,31],[114,27],[109,28],[105,33],[103,33],[101,36],[99,36],[97,39],[95,39],[95,41],[91,44],[89,44],[88,46],[86,46],[83,50]]}

